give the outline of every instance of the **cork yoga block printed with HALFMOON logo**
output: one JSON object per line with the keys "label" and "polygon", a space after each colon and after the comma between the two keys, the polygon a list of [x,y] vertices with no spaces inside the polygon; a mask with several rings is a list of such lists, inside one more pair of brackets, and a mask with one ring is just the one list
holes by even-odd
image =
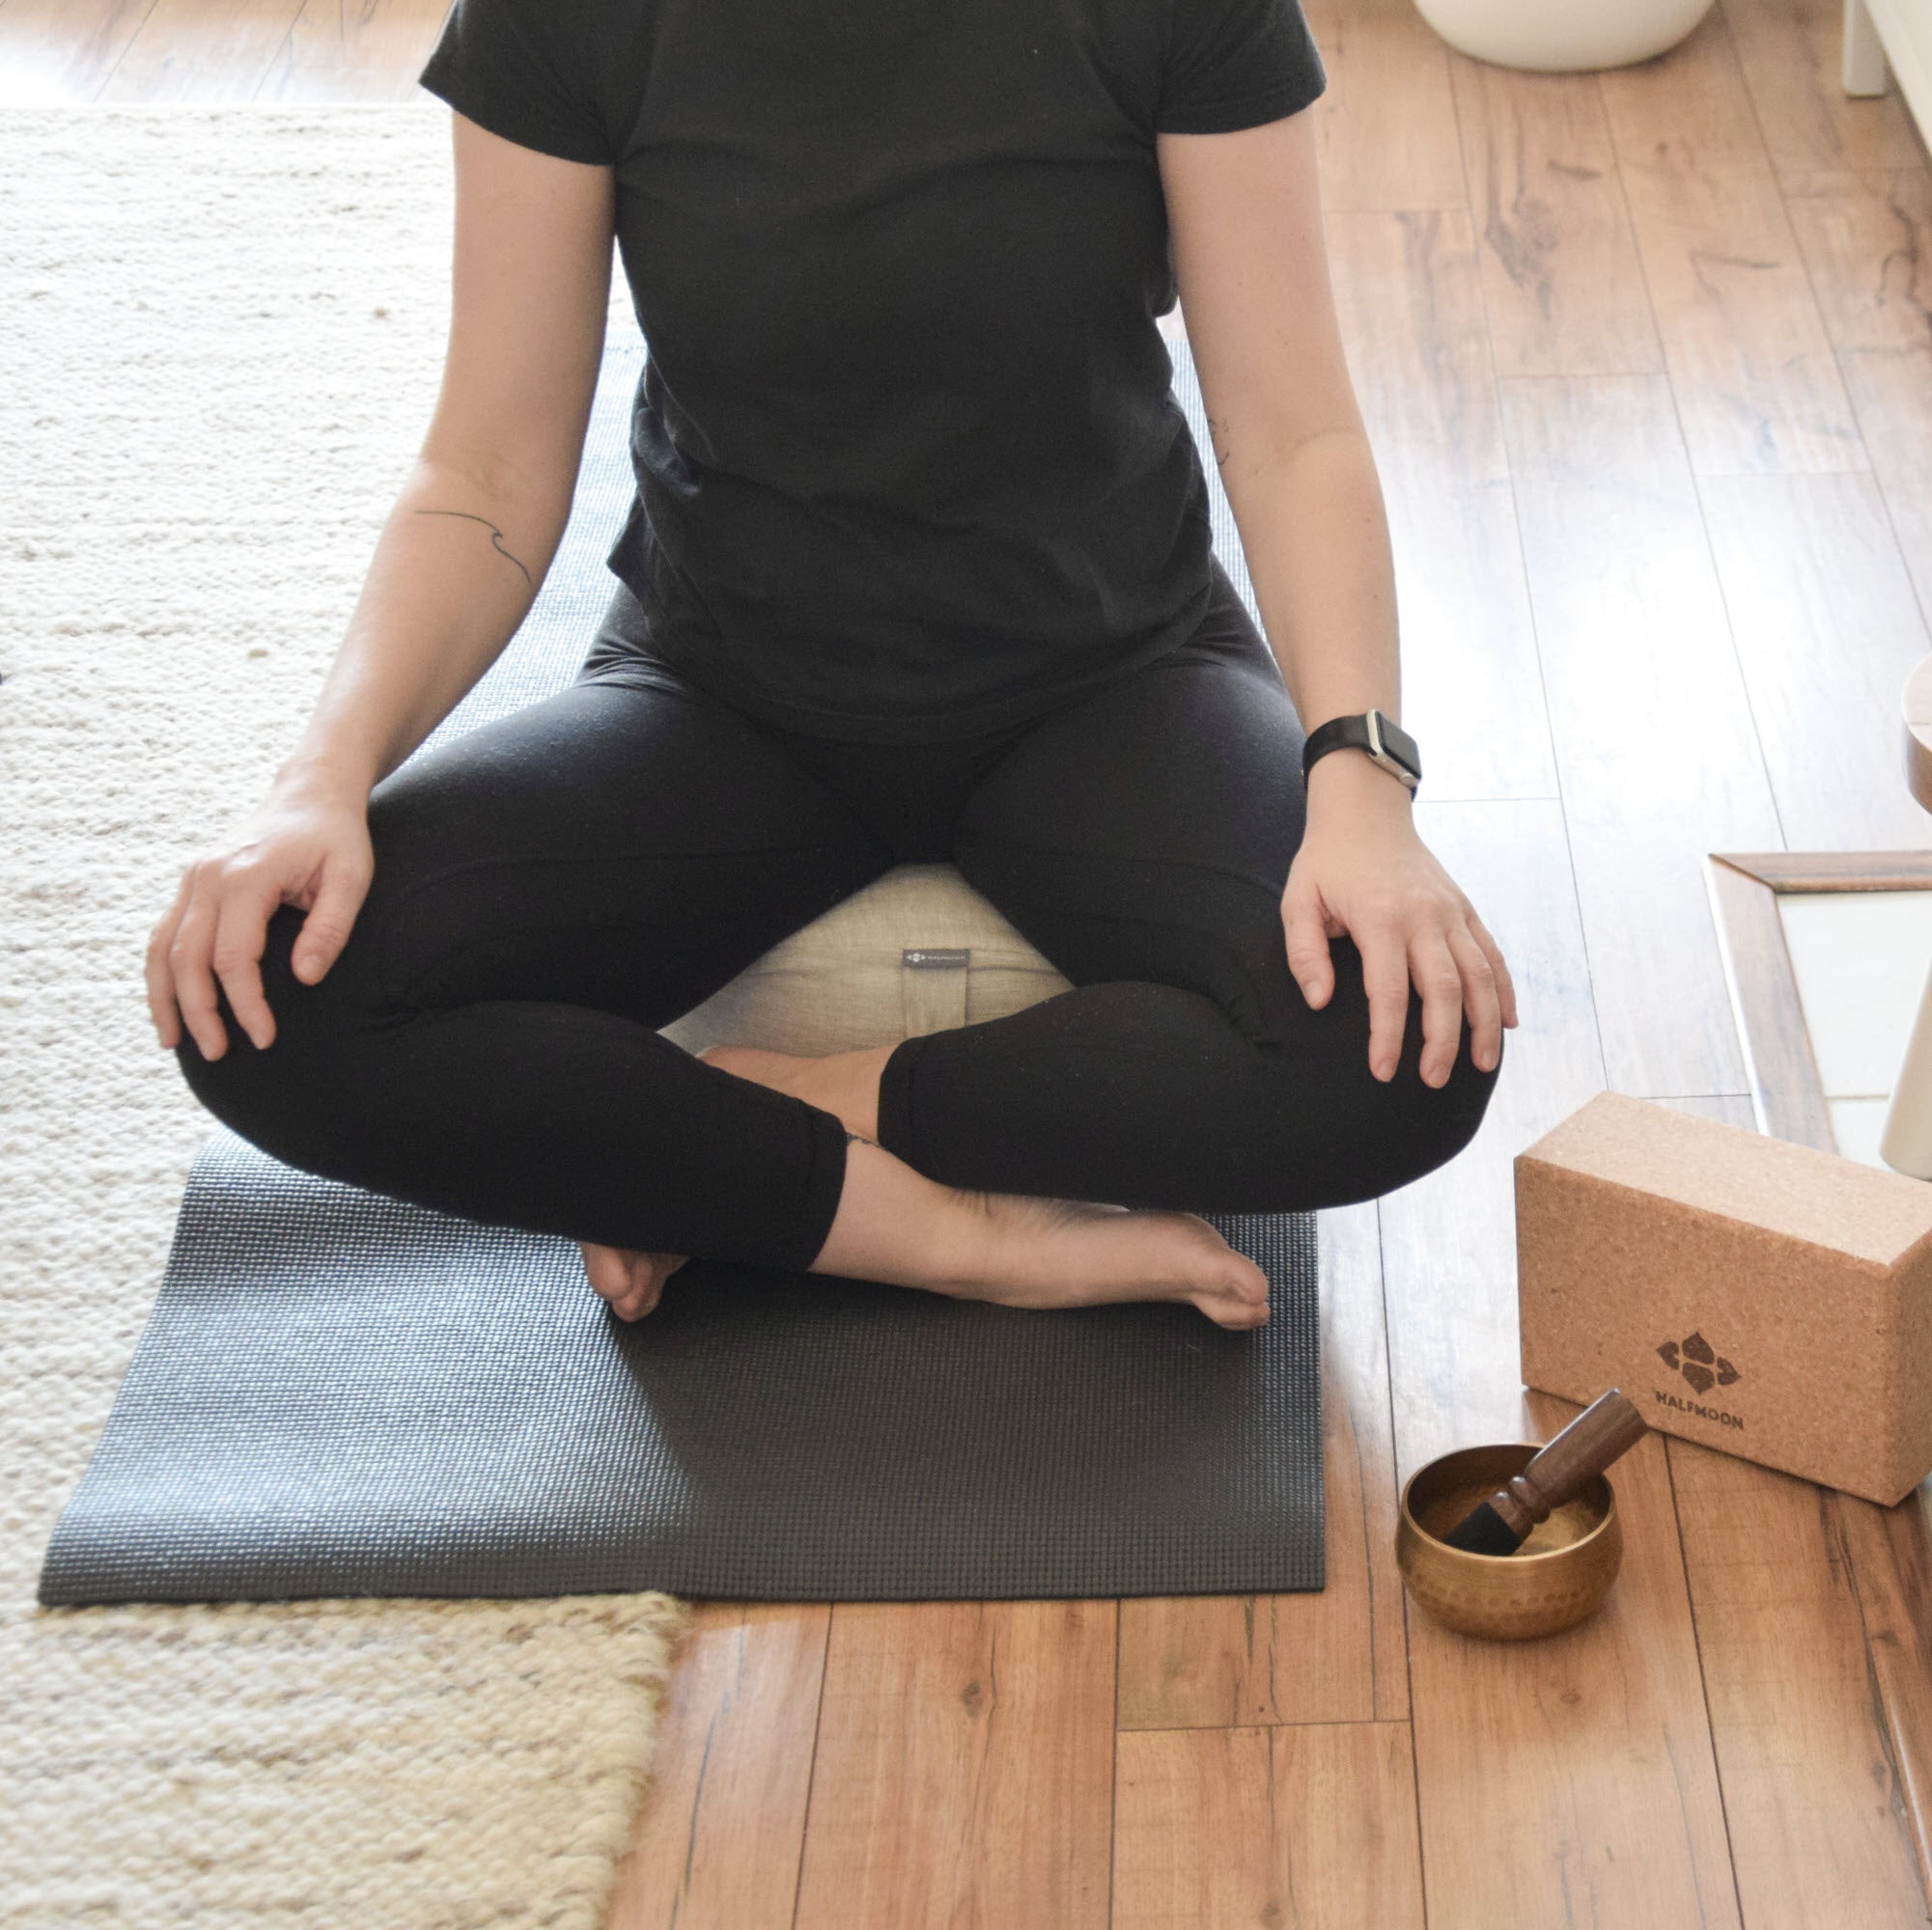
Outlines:
{"label": "cork yoga block printed with HALFMOON logo", "polygon": [[1932,1473],[1932,1183],[1621,1092],[1515,1181],[1526,1386],[1886,1505]]}

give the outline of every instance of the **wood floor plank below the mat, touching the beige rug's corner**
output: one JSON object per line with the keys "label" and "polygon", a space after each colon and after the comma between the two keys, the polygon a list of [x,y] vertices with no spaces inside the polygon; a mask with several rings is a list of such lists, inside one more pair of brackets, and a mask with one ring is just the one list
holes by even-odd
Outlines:
{"label": "wood floor plank below the mat, touching the beige rug's corner", "polygon": [[609,1930],[788,1930],[831,1608],[699,1602]]}

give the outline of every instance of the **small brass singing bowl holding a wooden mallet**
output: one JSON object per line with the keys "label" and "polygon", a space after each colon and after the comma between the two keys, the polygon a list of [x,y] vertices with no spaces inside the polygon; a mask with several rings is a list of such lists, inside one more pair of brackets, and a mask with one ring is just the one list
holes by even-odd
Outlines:
{"label": "small brass singing bowl holding a wooden mallet", "polygon": [[1607,1476],[1549,1511],[1513,1556],[1472,1556],[1441,1536],[1536,1453],[1534,1442],[1459,1448],[1418,1467],[1403,1484],[1395,1565],[1437,1621],[1464,1635],[1520,1642],[1555,1635],[1596,1613],[1623,1563],[1623,1523]]}

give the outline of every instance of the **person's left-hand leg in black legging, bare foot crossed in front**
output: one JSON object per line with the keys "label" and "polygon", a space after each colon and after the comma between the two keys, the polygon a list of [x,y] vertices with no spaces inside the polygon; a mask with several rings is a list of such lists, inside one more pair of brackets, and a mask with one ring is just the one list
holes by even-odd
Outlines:
{"label": "person's left-hand leg in black legging, bare foot crossed in front", "polygon": [[301,913],[269,921],[274,1042],[220,1000],[228,1050],[178,1046],[209,1112],[276,1158],[587,1258],[1265,1316],[1252,1264],[1188,1214],[945,1185],[659,1036],[893,861],[726,706],[578,683],[413,758],[369,824],[375,876],[319,984],[290,967]]}

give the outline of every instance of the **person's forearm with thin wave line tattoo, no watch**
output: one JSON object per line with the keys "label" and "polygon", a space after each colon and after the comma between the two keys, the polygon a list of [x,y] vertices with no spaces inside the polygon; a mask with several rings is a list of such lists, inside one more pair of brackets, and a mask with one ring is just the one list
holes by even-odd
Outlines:
{"label": "person's forearm with thin wave line tattoo, no watch", "polygon": [[377,538],[315,710],[276,772],[367,793],[456,708],[516,635],[568,500],[510,496],[419,461]]}

